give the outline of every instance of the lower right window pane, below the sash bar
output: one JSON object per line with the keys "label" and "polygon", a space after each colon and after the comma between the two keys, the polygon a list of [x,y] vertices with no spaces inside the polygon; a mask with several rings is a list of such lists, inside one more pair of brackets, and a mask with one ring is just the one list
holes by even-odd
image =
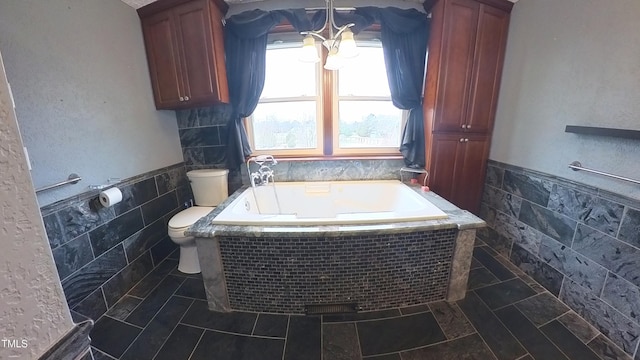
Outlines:
{"label": "lower right window pane, below the sash bar", "polygon": [[399,147],[402,110],[391,101],[340,101],[339,147]]}

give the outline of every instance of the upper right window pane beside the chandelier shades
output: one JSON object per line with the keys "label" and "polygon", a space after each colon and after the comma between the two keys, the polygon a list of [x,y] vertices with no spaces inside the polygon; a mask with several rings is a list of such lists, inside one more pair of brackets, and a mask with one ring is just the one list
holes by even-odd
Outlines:
{"label": "upper right window pane beside the chandelier shades", "polygon": [[340,96],[390,97],[381,47],[358,47],[360,53],[338,72]]}

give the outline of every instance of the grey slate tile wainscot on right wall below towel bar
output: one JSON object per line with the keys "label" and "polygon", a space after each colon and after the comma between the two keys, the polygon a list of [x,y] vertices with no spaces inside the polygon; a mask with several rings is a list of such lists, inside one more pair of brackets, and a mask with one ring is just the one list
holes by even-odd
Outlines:
{"label": "grey slate tile wainscot on right wall below towel bar", "polygon": [[488,165],[478,237],[640,359],[640,201]]}

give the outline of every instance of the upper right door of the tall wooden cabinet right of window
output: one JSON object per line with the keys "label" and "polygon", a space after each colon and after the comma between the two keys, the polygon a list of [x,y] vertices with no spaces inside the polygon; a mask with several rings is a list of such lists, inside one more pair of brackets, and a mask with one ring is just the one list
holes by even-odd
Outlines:
{"label": "upper right door of the tall wooden cabinet right of window", "polygon": [[509,13],[480,5],[467,131],[493,128],[508,27]]}

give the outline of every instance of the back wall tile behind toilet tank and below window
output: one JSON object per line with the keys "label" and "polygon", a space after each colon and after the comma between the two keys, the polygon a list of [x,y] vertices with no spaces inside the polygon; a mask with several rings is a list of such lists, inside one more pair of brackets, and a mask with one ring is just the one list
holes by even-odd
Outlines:
{"label": "back wall tile behind toilet tank and below window", "polygon": [[[229,105],[176,111],[180,143],[187,171],[226,167]],[[398,153],[400,155],[400,153]],[[402,159],[279,161],[276,181],[389,180],[400,179]],[[410,176],[407,177],[407,179]],[[246,168],[229,173],[229,194],[248,184]]]}

